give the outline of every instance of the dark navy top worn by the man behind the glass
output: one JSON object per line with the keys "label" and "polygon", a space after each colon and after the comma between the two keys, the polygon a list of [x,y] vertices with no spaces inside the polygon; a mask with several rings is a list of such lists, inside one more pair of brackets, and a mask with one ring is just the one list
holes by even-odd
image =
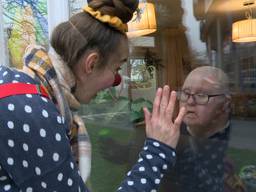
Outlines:
{"label": "dark navy top worn by the man behind the glass", "polygon": [[177,163],[166,174],[163,191],[223,192],[224,158],[230,127],[210,138],[193,137],[182,127],[177,145]]}

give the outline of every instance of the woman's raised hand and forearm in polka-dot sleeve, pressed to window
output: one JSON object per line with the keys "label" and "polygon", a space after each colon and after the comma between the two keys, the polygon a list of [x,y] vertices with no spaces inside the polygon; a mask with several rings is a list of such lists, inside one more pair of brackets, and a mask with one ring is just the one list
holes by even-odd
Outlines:
{"label": "woman's raised hand and forearm in polka-dot sleeve, pressed to window", "polygon": [[176,93],[170,93],[165,86],[158,89],[154,100],[152,114],[144,109],[147,139],[139,160],[122,182],[118,191],[156,192],[164,174],[175,163],[180,124],[185,114],[181,109],[173,122]]}

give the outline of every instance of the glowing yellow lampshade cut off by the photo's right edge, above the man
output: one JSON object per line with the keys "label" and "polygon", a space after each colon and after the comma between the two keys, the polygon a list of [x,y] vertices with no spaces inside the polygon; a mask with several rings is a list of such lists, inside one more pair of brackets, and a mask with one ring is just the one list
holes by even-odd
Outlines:
{"label": "glowing yellow lampshade cut off by the photo's right edge, above the man", "polygon": [[256,19],[244,19],[232,24],[232,41],[236,43],[256,41]]}

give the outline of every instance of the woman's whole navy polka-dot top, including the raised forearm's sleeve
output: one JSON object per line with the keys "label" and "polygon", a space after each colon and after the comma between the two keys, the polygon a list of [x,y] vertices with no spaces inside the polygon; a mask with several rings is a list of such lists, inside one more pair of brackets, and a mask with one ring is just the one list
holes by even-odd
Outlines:
{"label": "woman's whole navy polka-dot top, including the raised forearm's sleeve", "polygon": [[[17,82],[38,84],[22,72],[0,66],[0,84]],[[67,122],[45,97],[0,99],[0,192],[89,191],[72,157],[67,131]],[[175,156],[169,146],[147,139],[118,191],[157,191]]]}

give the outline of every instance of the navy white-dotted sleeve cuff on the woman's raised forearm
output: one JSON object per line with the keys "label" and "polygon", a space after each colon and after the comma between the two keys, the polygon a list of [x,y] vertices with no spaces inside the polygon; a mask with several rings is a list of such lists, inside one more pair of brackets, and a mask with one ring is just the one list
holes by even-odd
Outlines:
{"label": "navy white-dotted sleeve cuff on the woman's raised forearm", "polygon": [[136,191],[156,192],[161,178],[168,170],[167,165],[172,165],[174,161],[175,152],[171,148],[153,139],[147,139],[137,164],[127,173],[127,178],[118,191],[136,189]]}

